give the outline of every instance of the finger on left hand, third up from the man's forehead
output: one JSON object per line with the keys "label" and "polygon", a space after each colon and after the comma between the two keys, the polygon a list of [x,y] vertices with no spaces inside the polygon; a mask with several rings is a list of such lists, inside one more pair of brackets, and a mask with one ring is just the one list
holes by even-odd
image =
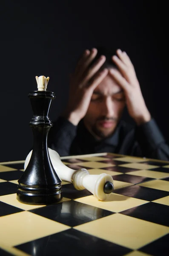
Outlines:
{"label": "finger on left hand, third up from the man's forehead", "polygon": [[77,69],[75,70],[75,75],[80,77],[87,69],[89,64],[92,62],[92,60],[96,57],[97,55],[97,49],[93,48],[87,57],[81,61],[80,65],[78,65]]}

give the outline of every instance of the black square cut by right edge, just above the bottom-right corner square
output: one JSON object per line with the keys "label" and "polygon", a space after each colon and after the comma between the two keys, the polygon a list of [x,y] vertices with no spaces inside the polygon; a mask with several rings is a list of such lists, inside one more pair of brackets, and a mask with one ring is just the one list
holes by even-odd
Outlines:
{"label": "black square cut by right edge, just above the bottom-right corner square", "polygon": [[120,213],[169,227],[168,205],[149,202]]}

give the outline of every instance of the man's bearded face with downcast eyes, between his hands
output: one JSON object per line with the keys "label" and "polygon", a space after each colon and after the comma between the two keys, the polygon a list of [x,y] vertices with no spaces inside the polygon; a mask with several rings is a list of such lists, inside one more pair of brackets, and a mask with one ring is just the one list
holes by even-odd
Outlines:
{"label": "man's bearded face with downcast eyes, between his hands", "polygon": [[108,74],[94,90],[84,117],[86,128],[97,139],[111,136],[122,116],[124,106],[123,90]]}

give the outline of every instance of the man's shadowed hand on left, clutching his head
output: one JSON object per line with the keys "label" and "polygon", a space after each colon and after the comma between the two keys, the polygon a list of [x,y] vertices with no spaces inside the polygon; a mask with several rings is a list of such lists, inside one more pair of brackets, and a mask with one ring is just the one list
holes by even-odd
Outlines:
{"label": "man's shadowed hand on left, clutching his head", "polygon": [[108,73],[107,69],[99,71],[106,60],[105,56],[100,56],[91,66],[96,55],[97,49],[86,50],[70,77],[69,100],[63,116],[74,125],[86,115],[93,91]]}

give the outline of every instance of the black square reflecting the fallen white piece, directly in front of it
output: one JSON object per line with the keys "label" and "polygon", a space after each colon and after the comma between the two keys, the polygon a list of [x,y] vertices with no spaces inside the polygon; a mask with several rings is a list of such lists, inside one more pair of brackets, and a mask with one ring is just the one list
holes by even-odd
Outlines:
{"label": "black square reflecting the fallen white piece, directly in front of it", "polygon": [[81,225],[114,214],[114,212],[82,204],[76,201],[64,201],[37,209],[32,209],[37,215],[60,222],[70,227]]}

